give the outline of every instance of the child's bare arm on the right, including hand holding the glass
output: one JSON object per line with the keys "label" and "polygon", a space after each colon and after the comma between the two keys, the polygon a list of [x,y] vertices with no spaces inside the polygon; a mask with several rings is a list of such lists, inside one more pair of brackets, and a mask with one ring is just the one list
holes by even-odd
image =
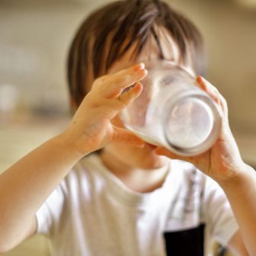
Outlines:
{"label": "child's bare arm on the right, including hand holding the glass", "polygon": [[[254,255],[256,251],[256,172],[242,161],[238,146],[229,128],[228,107],[225,99],[213,85],[202,77],[197,83],[222,109],[222,127],[219,138],[207,152],[182,157],[164,148],[156,149],[159,155],[191,162],[222,187],[232,206],[239,230],[229,242],[237,255]],[[246,248],[246,249],[245,249]]]}

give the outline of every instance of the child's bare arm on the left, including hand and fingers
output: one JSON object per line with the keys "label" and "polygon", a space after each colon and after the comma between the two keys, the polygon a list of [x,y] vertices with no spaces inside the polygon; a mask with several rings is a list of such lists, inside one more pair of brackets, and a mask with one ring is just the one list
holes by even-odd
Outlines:
{"label": "child's bare arm on the left, including hand and fingers", "polygon": [[[37,210],[84,155],[113,140],[143,145],[110,120],[140,94],[142,85],[136,82],[145,75],[144,66],[137,65],[98,78],[63,133],[0,175],[0,252],[14,248],[36,231]],[[134,83],[133,88],[122,93]]]}

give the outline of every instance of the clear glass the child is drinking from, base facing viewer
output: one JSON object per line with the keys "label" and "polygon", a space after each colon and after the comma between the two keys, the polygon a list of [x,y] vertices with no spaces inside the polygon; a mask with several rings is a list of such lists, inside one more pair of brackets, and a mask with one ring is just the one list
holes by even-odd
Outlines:
{"label": "clear glass the child is drinking from, base facing viewer", "polygon": [[143,91],[120,114],[126,129],[179,155],[210,149],[221,122],[216,103],[180,66],[161,60],[145,64],[149,73],[142,80]]}

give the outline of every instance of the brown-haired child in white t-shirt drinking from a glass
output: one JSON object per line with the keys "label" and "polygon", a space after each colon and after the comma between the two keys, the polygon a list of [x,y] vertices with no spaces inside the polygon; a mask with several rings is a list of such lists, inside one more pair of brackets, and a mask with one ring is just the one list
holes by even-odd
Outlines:
{"label": "brown-haired child in white t-shirt drinking from a glass", "polygon": [[123,129],[118,113],[142,91],[147,71],[135,63],[145,59],[202,74],[200,34],[160,1],[114,2],[85,20],[69,53],[72,121],[1,175],[1,251],[41,232],[53,255],[198,256],[211,237],[254,255],[256,176],[213,85],[197,77],[223,112],[219,138],[201,155],[180,157]]}

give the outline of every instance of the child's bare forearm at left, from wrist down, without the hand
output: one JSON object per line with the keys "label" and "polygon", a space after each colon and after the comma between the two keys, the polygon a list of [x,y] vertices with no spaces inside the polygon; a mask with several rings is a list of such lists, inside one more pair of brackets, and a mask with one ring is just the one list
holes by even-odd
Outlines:
{"label": "child's bare forearm at left, from wrist down, without the hand", "polygon": [[0,175],[0,237],[11,242],[82,155],[56,136]]}

